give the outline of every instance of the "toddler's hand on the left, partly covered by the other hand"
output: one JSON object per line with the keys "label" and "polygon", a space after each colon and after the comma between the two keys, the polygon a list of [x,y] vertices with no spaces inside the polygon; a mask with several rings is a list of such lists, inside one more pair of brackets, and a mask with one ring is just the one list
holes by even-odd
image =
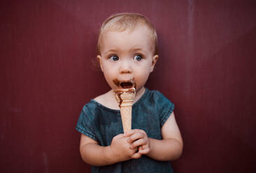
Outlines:
{"label": "toddler's hand on the left, partly covered by the other hand", "polygon": [[120,161],[129,160],[131,158],[141,158],[141,153],[137,152],[138,147],[131,148],[128,138],[124,134],[119,134],[113,137],[111,142],[111,151],[113,155]]}

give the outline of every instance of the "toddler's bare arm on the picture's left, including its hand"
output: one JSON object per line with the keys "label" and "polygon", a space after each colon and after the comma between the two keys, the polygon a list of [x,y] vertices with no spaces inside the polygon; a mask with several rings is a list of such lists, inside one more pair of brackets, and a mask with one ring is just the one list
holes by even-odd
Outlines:
{"label": "toddler's bare arm on the picture's left, including its hand", "polygon": [[83,160],[94,166],[112,165],[131,158],[140,158],[141,153],[138,149],[130,149],[127,137],[123,134],[113,137],[110,146],[100,146],[98,142],[86,135],[81,135],[80,154]]}

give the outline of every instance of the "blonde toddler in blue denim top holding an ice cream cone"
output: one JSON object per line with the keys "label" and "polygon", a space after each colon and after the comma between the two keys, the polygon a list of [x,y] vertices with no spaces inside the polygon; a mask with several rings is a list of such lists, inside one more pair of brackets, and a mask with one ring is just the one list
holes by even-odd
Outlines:
{"label": "blonde toddler in blue denim top holding an ice cream cone", "polygon": [[[111,91],[90,100],[80,114],[76,129],[82,133],[83,160],[93,165],[92,172],[173,172],[169,160],[183,151],[174,105],[144,87],[158,59],[155,28],[143,15],[113,15],[102,24],[98,50]],[[132,130],[123,134],[113,89],[131,81],[136,84]]]}

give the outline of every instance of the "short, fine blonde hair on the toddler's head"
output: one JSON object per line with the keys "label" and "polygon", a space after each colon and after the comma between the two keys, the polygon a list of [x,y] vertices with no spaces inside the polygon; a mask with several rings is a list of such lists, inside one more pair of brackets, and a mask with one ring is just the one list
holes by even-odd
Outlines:
{"label": "short, fine blonde hair on the toddler's head", "polygon": [[148,20],[147,17],[138,13],[114,14],[103,22],[99,31],[99,38],[97,43],[98,54],[101,54],[101,37],[105,31],[111,30],[122,32],[127,29],[129,29],[129,31],[133,31],[138,24],[145,24],[145,26],[148,27],[151,33],[152,48],[154,49],[154,53],[157,54],[157,32],[155,31],[155,27],[153,27],[152,23]]}

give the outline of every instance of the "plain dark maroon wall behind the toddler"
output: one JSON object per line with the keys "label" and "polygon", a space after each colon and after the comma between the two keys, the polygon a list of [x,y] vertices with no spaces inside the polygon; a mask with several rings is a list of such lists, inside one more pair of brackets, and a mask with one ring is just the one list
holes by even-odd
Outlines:
{"label": "plain dark maroon wall behind the toddler", "polygon": [[76,121],[108,91],[96,57],[101,23],[148,16],[159,35],[150,89],[176,105],[176,172],[255,172],[255,0],[1,1],[0,172],[89,172]]}

